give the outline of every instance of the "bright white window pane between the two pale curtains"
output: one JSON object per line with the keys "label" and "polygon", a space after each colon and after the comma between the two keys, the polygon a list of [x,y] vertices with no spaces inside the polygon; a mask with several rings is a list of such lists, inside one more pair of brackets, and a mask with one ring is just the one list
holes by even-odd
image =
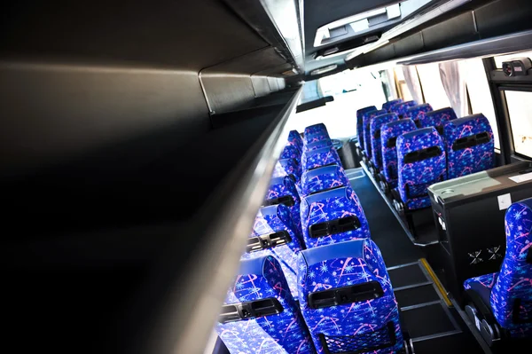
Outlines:
{"label": "bright white window pane between the two pale curtains", "polygon": [[434,110],[450,107],[449,98],[443,89],[439,65],[437,63],[424,64],[417,68],[425,102],[429,103]]}

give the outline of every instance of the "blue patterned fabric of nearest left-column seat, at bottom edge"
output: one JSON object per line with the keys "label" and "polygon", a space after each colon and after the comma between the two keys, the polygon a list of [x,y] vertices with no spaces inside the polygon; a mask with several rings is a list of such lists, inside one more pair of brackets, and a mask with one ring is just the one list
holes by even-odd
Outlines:
{"label": "blue patterned fabric of nearest left-column seat, at bottom edge", "polygon": [[231,354],[314,354],[309,330],[273,256],[242,261],[226,304],[276,298],[283,311],[254,319],[218,323],[216,332]]}

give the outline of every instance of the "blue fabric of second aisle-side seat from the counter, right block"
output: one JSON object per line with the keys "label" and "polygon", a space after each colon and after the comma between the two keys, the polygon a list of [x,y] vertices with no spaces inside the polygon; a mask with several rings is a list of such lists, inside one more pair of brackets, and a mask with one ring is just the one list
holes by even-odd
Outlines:
{"label": "blue fabric of second aisle-side seat from the counter, right block", "polygon": [[398,138],[404,133],[416,130],[416,124],[411,119],[402,119],[384,124],[380,128],[380,145],[382,146],[382,166],[390,188],[397,187],[397,146],[387,147],[388,139]]}

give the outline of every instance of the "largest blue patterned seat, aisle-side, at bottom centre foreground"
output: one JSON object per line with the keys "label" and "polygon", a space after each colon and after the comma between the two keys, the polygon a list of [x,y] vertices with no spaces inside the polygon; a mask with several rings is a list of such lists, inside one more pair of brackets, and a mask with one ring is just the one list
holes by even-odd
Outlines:
{"label": "largest blue patterned seat, aisle-side, at bottom centre foreground", "polygon": [[318,353],[399,353],[399,311],[379,248],[353,240],[299,256],[302,315]]}

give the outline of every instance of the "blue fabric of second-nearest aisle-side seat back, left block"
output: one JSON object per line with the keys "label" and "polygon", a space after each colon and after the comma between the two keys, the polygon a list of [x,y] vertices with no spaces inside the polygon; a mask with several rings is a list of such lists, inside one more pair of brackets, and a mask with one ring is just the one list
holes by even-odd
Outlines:
{"label": "blue fabric of second-nearest aisle-side seat back, left block", "polygon": [[[356,216],[360,227],[348,232],[339,232],[325,237],[312,238],[309,227],[347,216]],[[301,228],[307,248],[332,243],[370,238],[370,226],[356,193],[350,186],[309,195],[301,201]]]}

